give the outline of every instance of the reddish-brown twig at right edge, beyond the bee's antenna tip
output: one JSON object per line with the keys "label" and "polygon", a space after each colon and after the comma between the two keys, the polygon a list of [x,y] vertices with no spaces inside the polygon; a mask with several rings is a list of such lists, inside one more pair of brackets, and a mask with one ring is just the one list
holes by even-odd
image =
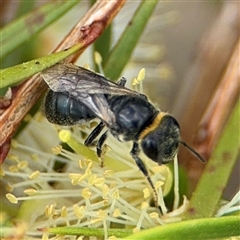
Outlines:
{"label": "reddish-brown twig at right edge, beyond the bee's antenna tip", "polygon": [[240,94],[240,40],[236,44],[226,72],[215,92],[195,139],[194,148],[208,159]]}

